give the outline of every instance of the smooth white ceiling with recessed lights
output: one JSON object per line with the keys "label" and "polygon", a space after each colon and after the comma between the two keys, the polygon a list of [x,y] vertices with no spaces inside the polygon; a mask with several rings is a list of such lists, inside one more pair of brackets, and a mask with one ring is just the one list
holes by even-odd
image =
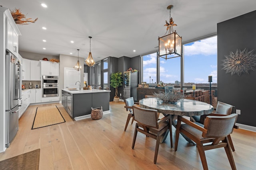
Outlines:
{"label": "smooth white ceiling with recessed lights", "polygon": [[[41,3],[48,7],[43,8]],[[255,10],[255,0],[0,0],[36,23],[18,25],[19,51],[46,55],[134,57],[157,50],[171,16],[183,42],[213,35],[217,23]],[[239,24],[239,23],[238,23]],[[42,27],[46,27],[43,30]],[[241,30],[242,31],[242,30]],[[46,40],[43,42],[42,40]],[[70,43],[74,41],[74,43]],[[43,48],[46,48],[45,50]],[[136,50],[136,52],[134,52]]]}

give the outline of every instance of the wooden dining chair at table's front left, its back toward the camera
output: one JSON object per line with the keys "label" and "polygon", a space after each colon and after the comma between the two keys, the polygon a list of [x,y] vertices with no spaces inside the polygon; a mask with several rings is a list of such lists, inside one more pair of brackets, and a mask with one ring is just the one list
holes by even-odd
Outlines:
{"label": "wooden dining chair at table's front left, its back toward the camera", "polygon": [[[158,149],[160,144],[160,137],[167,129],[171,131],[170,120],[171,115],[167,115],[158,120],[157,110],[144,109],[142,107],[133,106],[134,120],[137,122],[135,125],[134,137],[132,141],[132,149],[134,149],[137,133],[143,133],[147,137],[156,139],[156,148],[154,155],[154,164],[156,164]],[[168,121],[167,121],[168,120]],[[170,135],[171,139],[171,135]]]}

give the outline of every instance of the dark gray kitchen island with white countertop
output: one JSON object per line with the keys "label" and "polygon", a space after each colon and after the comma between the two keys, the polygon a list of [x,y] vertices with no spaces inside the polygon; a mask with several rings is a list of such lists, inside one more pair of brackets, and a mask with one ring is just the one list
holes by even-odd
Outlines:
{"label": "dark gray kitchen island with white countertop", "polygon": [[90,117],[92,108],[101,107],[103,114],[110,113],[110,90],[68,90],[62,89],[62,105],[75,120]]}

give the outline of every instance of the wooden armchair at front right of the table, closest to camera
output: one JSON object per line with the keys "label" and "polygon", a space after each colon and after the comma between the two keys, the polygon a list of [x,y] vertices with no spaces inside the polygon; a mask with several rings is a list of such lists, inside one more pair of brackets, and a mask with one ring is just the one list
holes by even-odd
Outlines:
{"label": "wooden armchair at front right of the table, closest to camera", "polygon": [[[224,147],[232,170],[236,170],[228,135],[233,131],[233,126],[236,123],[237,116],[238,115],[234,113],[224,116],[207,116],[204,127],[178,116],[174,150],[176,151],[178,148],[179,134],[182,132],[196,143],[204,170],[208,170],[205,150],[220,147]],[[184,122],[185,124],[181,124],[181,122]]]}

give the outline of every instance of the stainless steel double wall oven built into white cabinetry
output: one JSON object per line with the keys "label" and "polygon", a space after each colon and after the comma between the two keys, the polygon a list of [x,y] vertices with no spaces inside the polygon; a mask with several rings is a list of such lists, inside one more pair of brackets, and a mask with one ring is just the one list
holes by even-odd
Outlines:
{"label": "stainless steel double wall oven built into white cabinetry", "polygon": [[42,76],[42,97],[59,96],[59,77]]}

